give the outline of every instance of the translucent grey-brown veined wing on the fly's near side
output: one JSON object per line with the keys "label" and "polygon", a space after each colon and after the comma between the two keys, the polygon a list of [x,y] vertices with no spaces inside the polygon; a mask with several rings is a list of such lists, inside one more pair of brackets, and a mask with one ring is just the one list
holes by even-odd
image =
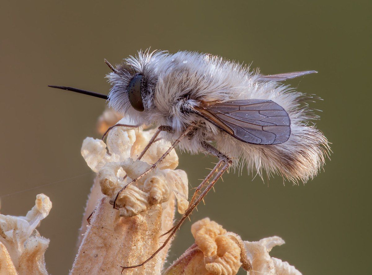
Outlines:
{"label": "translucent grey-brown veined wing on the fly's near side", "polygon": [[288,113],[272,100],[233,100],[209,105],[204,110],[210,114],[209,121],[222,124],[221,129],[243,142],[279,144],[291,135]]}

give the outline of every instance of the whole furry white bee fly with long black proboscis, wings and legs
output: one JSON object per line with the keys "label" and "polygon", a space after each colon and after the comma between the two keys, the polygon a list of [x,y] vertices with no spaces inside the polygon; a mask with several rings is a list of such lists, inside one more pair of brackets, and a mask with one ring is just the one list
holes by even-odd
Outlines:
{"label": "whole furry white bee fly with long black proboscis, wings and legs", "polygon": [[[310,125],[317,116],[305,104],[312,96],[280,83],[315,71],[263,76],[235,62],[194,52],[146,51],[116,67],[106,63],[113,71],[107,75],[112,85],[108,96],[59,88],[107,98],[110,107],[135,125],[160,126],[150,143],[165,130],[164,138],[173,141],[169,150],[178,146],[220,159],[196,189],[184,217],[167,232],[170,236],[163,246],[222,173],[230,165],[238,165],[239,159],[249,171],[278,173],[304,182],[324,164],[328,142]],[[132,182],[155,169],[165,156]]]}

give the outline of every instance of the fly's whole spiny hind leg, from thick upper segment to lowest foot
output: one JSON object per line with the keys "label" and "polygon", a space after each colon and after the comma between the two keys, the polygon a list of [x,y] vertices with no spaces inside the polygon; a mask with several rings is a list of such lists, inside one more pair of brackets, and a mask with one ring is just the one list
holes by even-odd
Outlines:
{"label": "fly's whole spiny hind leg, from thick upper segment to lowest foot", "polygon": [[[191,212],[196,208],[196,206],[198,206],[198,204],[203,200],[203,198],[206,196],[206,194],[213,188],[214,184],[217,182],[217,180],[219,178],[221,178],[222,174],[231,166],[231,163],[232,163],[231,159],[228,158],[227,156],[225,156],[223,153],[219,152],[212,145],[209,145],[209,143],[205,143],[205,144],[202,144],[202,146],[203,146],[204,149],[207,150],[208,153],[210,153],[210,154],[212,154],[214,156],[217,156],[220,159],[220,161],[215,166],[215,169],[218,169],[218,167],[221,165],[222,162],[225,162],[225,165],[217,173],[217,175],[214,177],[214,179],[211,181],[211,183],[209,183],[208,186],[203,190],[203,192],[196,199],[196,201],[192,205],[190,205],[189,208],[187,208],[185,214],[182,216],[182,218],[180,219],[180,221],[177,222],[177,224],[171,229],[170,234],[169,234],[168,238],[164,241],[163,245],[161,245],[157,249],[157,251],[155,251],[153,253],[153,255],[151,255],[146,261],[142,262],[141,264],[133,265],[133,266],[120,266],[122,268],[121,273],[123,273],[124,269],[136,268],[136,267],[142,266],[142,265],[146,264],[148,261],[150,261],[152,258],[154,258],[154,256],[156,254],[158,254],[161,251],[161,249],[163,249],[167,245],[167,243],[171,240],[171,238],[173,238],[174,234],[180,228],[180,226],[185,221],[185,219],[189,217],[189,215],[191,214]],[[212,169],[212,171],[211,171],[212,175],[215,172],[214,171],[215,169]]]}

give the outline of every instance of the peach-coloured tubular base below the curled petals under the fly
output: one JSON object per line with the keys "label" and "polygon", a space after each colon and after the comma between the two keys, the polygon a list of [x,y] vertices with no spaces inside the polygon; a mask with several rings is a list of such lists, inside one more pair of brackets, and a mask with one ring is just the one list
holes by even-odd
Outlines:
{"label": "peach-coloured tubular base below the curled petals under the fly", "polygon": [[[162,205],[154,205],[137,216],[126,218],[120,217],[119,211],[112,208],[108,197],[100,199],[71,275],[118,274],[120,264],[143,262],[163,241],[160,232],[173,224],[174,197],[166,204],[164,211]],[[146,266],[123,274],[160,274],[167,250],[164,249]]]}

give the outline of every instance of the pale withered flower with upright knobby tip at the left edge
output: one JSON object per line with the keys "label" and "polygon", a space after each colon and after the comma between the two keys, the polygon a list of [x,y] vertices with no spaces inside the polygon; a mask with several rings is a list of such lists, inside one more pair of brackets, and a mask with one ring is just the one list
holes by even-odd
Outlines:
{"label": "pale withered flower with upright knobby tip at the left edge", "polygon": [[44,253],[49,240],[35,228],[51,208],[48,196],[39,194],[25,217],[0,215],[1,274],[48,274]]}

